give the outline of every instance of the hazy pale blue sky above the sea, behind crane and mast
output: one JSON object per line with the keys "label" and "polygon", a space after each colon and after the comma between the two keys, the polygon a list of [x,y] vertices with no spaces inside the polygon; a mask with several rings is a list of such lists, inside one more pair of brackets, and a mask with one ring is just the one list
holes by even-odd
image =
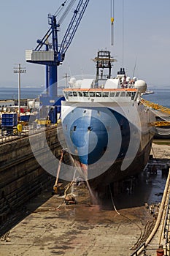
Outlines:
{"label": "hazy pale blue sky above the sea, behind crane and mast", "polygon": [[[0,4],[1,72],[0,86],[17,86],[13,74],[15,63],[26,67],[22,86],[45,84],[45,67],[28,64],[25,50],[36,47],[49,28],[47,14],[53,14],[63,0],[8,0]],[[90,0],[73,42],[66,52],[63,65],[58,68],[59,79],[70,75],[90,74],[96,70],[93,57],[98,49],[107,48],[117,63],[112,74],[122,67],[123,0],[115,0],[115,39],[110,39],[110,0]],[[150,86],[170,86],[170,0],[124,0],[124,67],[128,75],[146,80]],[[61,25],[59,42],[66,31],[70,15]]]}

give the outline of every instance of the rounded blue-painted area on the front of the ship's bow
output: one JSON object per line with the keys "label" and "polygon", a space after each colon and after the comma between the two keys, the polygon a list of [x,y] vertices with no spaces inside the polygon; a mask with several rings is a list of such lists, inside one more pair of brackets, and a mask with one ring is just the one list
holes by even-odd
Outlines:
{"label": "rounded blue-painted area on the front of the ship's bow", "polygon": [[[90,114],[85,114],[85,111]],[[73,118],[76,116],[77,118]],[[75,120],[74,120],[75,119]],[[112,123],[114,120],[114,125]],[[117,140],[117,130],[120,140]],[[63,134],[71,154],[77,154],[84,165],[98,162],[108,148],[108,140],[112,140],[112,150],[120,146],[117,158],[123,158],[130,140],[128,120],[108,108],[75,108],[63,119]],[[123,140],[125,138],[125,140]],[[115,153],[117,151],[115,150]]]}

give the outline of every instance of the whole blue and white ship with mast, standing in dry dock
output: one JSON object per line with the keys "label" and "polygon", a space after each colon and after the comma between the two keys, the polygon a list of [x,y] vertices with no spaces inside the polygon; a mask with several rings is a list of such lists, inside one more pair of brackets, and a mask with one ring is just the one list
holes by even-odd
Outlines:
{"label": "whole blue and white ship with mast, standing in dry dock", "polygon": [[154,116],[141,101],[144,80],[129,78],[109,50],[98,50],[96,76],[70,78],[63,89],[61,123],[66,148],[80,173],[96,190],[136,176],[147,165],[152,146]]}

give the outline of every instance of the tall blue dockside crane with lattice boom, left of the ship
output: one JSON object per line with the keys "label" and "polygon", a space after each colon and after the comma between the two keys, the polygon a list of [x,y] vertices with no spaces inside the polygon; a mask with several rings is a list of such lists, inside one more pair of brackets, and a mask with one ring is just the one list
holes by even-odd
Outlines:
{"label": "tall blue dockside crane with lattice boom, left of the ship", "polygon": [[[57,20],[58,14],[61,12],[61,9],[66,5],[68,0],[64,1],[59,7],[58,11],[55,12],[55,15],[48,15],[48,23],[50,29],[42,39],[38,39],[36,42],[36,48],[34,50],[26,50],[26,61],[34,64],[42,64],[46,66],[46,91],[47,94],[45,97],[40,99],[42,105],[55,105],[58,102],[58,66],[63,63],[65,58],[66,50],[69,48],[69,45],[74,38],[74,34],[77,31],[77,28],[80,24],[82,16],[88,6],[89,0],[79,0],[77,7],[74,10],[72,19],[69,23],[66,33],[63,36],[61,44],[58,43],[58,31],[60,31],[60,25],[63,19],[66,17],[69,10],[72,8],[75,0],[70,0],[66,11],[63,12],[63,15],[60,19]],[[49,42],[49,39],[52,39],[52,42]],[[42,48],[45,47],[45,50]]]}

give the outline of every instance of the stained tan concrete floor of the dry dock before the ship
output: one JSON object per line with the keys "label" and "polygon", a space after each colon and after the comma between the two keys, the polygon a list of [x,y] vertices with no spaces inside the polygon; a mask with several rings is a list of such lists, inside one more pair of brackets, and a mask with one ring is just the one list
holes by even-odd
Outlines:
{"label": "stained tan concrete floor of the dry dock before the ship", "polygon": [[74,190],[77,205],[61,205],[63,198],[54,195],[36,208],[36,203],[48,198],[49,193],[26,206],[33,212],[10,230],[9,242],[0,241],[1,256],[131,255],[131,246],[146,222],[152,220],[144,206],[121,209],[122,215],[112,208],[90,206],[85,188]]}

